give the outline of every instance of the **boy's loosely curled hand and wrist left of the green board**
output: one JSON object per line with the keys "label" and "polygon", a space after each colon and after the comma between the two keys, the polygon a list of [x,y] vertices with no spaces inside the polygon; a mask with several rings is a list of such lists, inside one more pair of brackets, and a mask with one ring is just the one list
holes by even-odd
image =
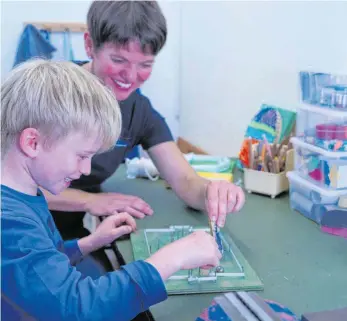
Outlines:
{"label": "boy's loosely curled hand and wrist left of the green board", "polygon": [[131,215],[128,213],[114,214],[103,220],[94,233],[78,240],[78,246],[82,254],[87,255],[135,230],[136,222]]}

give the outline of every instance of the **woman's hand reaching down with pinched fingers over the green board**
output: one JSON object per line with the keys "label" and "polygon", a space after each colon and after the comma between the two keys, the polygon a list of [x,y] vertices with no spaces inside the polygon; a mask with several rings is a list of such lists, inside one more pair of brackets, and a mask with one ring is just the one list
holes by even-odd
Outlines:
{"label": "woman's hand reaching down with pinched fingers over the green board", "polygon": [[245,203],[242,188],[226,181],[210,181],[205,195],[208,216],[219,227],[224,226],[227,214],[238,212]]}

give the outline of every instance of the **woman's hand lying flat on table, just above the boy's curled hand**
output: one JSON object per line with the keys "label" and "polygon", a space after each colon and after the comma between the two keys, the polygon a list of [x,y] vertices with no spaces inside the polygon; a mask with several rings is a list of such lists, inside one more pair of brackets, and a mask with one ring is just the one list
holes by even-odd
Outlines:
{"label": "woman's hand lying flat on table, just above the boy's curled hand", "polygon": [[152,215],[152,208],[141,198],[119,193],[90,194],[87,199],[86,212],[95,216],[106,216],[127,212],[136,218]]}

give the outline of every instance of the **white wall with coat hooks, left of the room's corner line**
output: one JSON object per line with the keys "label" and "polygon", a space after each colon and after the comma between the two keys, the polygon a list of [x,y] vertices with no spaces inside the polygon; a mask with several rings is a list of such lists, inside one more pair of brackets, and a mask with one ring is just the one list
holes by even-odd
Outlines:
{"label": "white wall with coat hooks, left of the room's corner line", "polygon": [[[12,69],[23,23],[27,21],[85,22],[91,1],[1,1],[1,79]],[[179,42],[180,3],[161,1],[167,18],[169,35],[167,43],[157,57],[150,80],[142,88],[156,108],[167,120],[173,135],[178,135],[179,110]],[[52,43],[58,52],[55,58],[63,58],[63,36],[52,35]],[[87,56],[83,35],[72,34],[75,59]]]}

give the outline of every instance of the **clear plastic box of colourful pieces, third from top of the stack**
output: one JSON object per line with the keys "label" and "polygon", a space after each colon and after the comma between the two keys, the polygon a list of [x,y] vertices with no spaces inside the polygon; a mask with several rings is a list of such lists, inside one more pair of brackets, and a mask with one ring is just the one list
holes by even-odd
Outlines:
{"label": "clear plastic box of colourful pieces, third from top of the stack", "polygon": [[295,170],[328,189],[347,189],[347,152],[329,152],[293,137]]}

